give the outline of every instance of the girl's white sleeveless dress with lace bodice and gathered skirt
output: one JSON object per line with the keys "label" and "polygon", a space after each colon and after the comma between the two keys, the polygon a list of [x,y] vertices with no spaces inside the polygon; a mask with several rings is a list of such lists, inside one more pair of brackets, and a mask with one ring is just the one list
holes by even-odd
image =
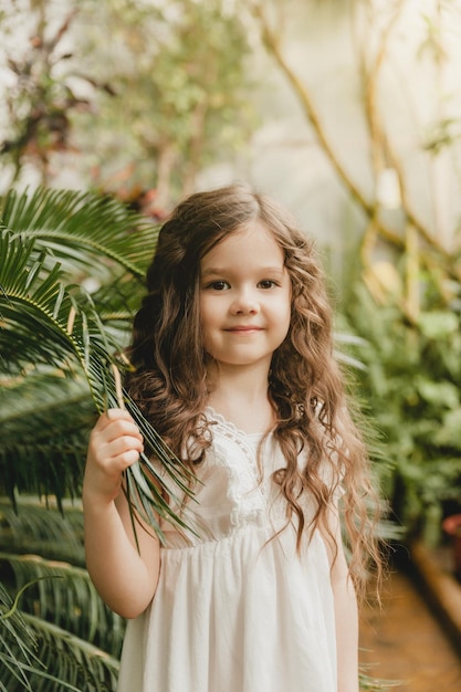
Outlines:
{"label": "girl's white sleeveless dress with lace bodice and gathered skirt", "polygon": [[164,525],[158,588],[128,621],[118,692],[336,692],[333,593],[318,534],[295,551],[271,475],[271,438],[212,413],[213,442],[189,502],[200,537]]}

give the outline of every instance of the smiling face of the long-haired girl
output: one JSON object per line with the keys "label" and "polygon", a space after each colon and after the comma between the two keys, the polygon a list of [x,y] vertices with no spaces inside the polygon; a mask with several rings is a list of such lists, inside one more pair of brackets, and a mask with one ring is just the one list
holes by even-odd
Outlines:
{"label": "smiling face of the long-haired girl", "polygon": [[264,224],[235,231],[203,256],[200,317],[205,350],[216,361],[269,373],[290,327],[291,281]]}

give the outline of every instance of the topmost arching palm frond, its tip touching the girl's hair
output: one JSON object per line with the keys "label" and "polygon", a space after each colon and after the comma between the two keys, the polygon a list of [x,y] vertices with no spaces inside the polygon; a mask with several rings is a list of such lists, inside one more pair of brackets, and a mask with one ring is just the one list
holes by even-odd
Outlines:
{"label": "topmost arching palm frond, its tip touching the girl's hair", "polygon": [[[8,192],[0,206],[4,226],[34,239],[66,268],[98,275],[104,264],[143,279],[157,241],[157,227],[111,197],[39,188]],[[107,264],[108,263],[108,264]]]}

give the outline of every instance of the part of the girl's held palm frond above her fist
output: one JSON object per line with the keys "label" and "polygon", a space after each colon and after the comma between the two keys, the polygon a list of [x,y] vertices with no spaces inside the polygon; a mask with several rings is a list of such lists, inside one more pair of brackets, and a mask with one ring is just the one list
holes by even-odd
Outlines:
{"label": "part of the girl's held palm frond above her fist", "polygon": [[46,253],[36,258],[34,250],[33,239],[0,231],[3,363],[42,363],[71,373],[77,365],[101,408],[106,359],[117,345],[102,328],[90,296],[63,283],[60,264],[45,271]]}

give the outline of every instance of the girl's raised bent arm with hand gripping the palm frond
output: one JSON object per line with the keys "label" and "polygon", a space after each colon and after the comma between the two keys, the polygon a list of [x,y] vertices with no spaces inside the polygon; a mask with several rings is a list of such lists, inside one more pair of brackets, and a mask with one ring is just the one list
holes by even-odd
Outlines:
{"label": "girl's raised bent arm with hand gripping the palm frond", "polygon": [[91,433],[83,481],[87,569],[105,602],[126,618],[147,608],[160,569],[158,538],[140,522],[139,552],[136,547],[122,490],[123,471],[142,451],[143,438],[133,418],[123,409],[111,409]]}

